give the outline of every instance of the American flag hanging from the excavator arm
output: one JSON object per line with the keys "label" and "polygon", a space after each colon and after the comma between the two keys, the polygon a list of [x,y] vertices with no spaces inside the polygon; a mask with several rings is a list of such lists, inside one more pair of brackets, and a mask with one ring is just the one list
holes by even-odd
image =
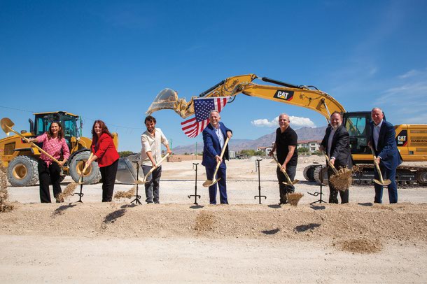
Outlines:
{"label": "American flag hanging from the excavator arm", "polygon": [[183,132],[190,138],[199,135],[209,123],[209,113],[217,110],[221,113],[231,97],[194,99],[195,118],[181,122]]}

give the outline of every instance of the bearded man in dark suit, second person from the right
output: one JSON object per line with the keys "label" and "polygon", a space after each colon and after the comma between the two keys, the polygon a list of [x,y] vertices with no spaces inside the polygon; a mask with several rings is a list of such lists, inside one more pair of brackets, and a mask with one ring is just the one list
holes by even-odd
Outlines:
{"label": "bearded man in dark suit, second person from the right", "polygon": [[[326,129],[325,137],[321,143],[321,151],[325,151],[330,158],[330,164],[336,169],[351,169],[353,160],[350,152],[349,132],[342,125],[342,114],[335,111],[330,115],[330,126]],[[328,166],[328,179],[334,174],[332,167]],[[338,192],[341,203],[349,203],[349,189],[345,191],[337,190],[329,183],[329,203],[338,203]]]}

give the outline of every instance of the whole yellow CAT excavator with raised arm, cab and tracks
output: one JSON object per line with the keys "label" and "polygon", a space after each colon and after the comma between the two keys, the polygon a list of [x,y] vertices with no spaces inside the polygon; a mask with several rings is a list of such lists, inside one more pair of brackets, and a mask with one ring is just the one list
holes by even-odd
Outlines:
{"label": "whole yellow CAT excavator with raised arm, cab and tracks", "polygon": [[[259,85],[253,83],[255,79],[274,85]],[[233,101],[237,94],[246,94],[250,97],[309,108],[323,115],[328,122],[330,114],[334,111],[343,113],[343,123],[350,134],[353,160],[358,165],[358,171],[353,174],[353,184],[372,183],[374,178],[372,154],[367,146],[370,136],[370,111],[347,112],[337,100],[314,86],[292,85],[270,78],[258,78],[255,74],[226,78],[209,90],[202,92],[198,97],[230,96],[232,97],[231,101]],[[187,118],[194,114],[193,100],[196,98],[192,97],[190,101],[186,101],[186,99],[179,99],[176,91],[164,89],[155,97],[146,113],[151,114],[162,109],[172,109],[181,118]],[[396,125],[395,131],[397,134],[396,143],[403,161],[427,161],[427,125]],[[325,183],[328,180],[325,176],[326,169],[320,164],[312,164],[304,169],[304,177],[309,181],[320,182],[322,179]],[[396,180],[400,186],[427,185],[427,167],[399,166]]]}

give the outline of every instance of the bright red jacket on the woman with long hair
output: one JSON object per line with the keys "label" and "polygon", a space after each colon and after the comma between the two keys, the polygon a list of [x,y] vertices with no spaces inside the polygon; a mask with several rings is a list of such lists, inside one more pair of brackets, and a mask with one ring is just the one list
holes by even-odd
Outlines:
{"label": "bright red jacket on the woman with long hair", "polygon": [[98,157],[97,162],[101,168],[103,166],[109,166],[113,164],[113,162],[116,162],[116,160],[119,158],[116,146],[114,145],[113,139],[109,136],[109,134],[101,134],[97,144],[95,145],[94,141],[92,141],[90,148],[92,149],[94,155]]}

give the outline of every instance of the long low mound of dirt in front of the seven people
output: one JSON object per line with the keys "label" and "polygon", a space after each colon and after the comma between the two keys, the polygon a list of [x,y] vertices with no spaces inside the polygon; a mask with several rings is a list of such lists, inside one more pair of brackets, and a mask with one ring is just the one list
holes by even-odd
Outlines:
{"label": "long low mound of dirt in front of the seven people", "polygon": [[0,214],[0,234],[323,239],[342,243],[342,249],[357,252],[377,251],[381,248],[379,243],[427,241],[427,204],[302,204],[295,207],[111,203],[20,204],[17,207]]}

